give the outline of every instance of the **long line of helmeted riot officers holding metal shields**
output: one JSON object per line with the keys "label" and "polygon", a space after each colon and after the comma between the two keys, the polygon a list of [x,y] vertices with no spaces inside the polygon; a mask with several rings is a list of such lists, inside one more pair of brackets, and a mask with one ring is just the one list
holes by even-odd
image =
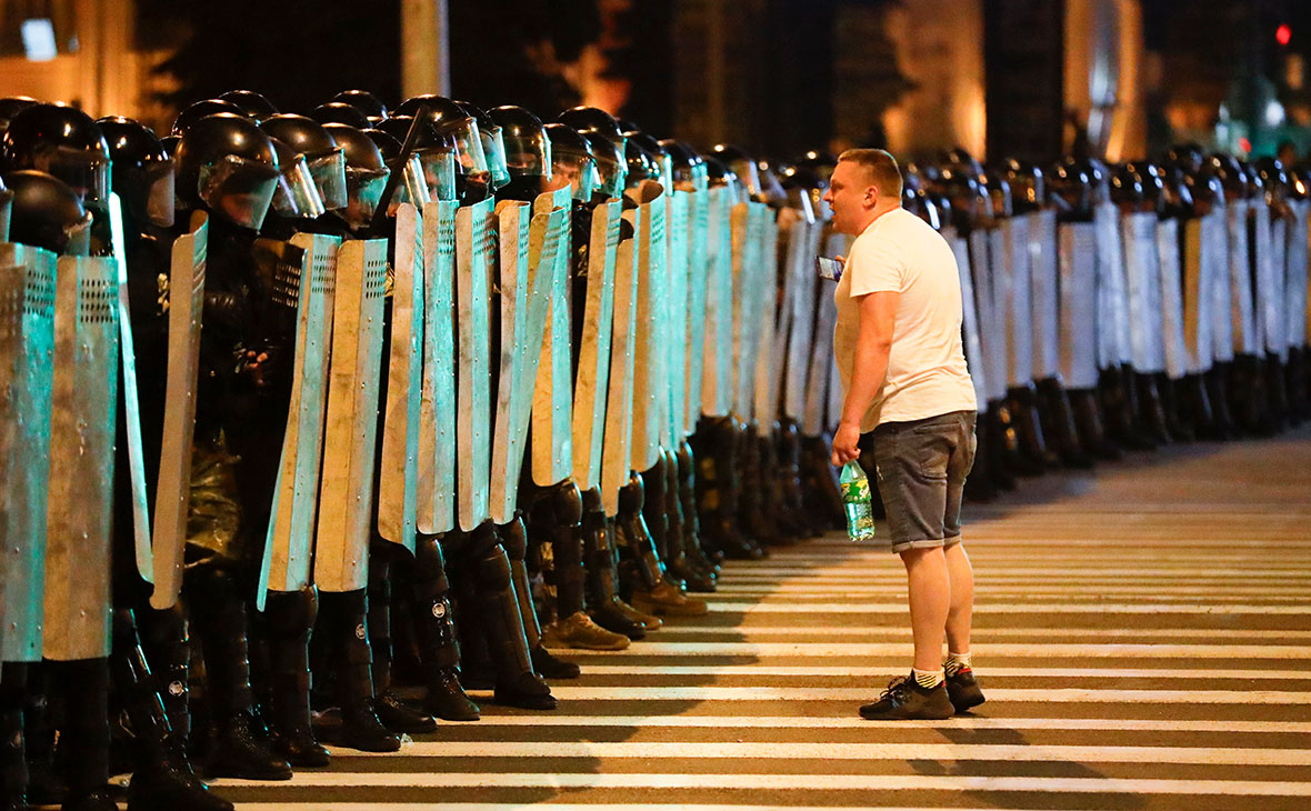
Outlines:
{"label": "long line of helmeted riot officers holding metal shields", "polygon": [[[843,525],[826,153],[361,90],[0,128],[3,811],[108,810],[117,773],[231,808],[197,772],[396,751],[476,721],[467,688],[553,709],[548,649]],[[966,292],[971,498],[1306,417],[1311,176],[905,176]]]}

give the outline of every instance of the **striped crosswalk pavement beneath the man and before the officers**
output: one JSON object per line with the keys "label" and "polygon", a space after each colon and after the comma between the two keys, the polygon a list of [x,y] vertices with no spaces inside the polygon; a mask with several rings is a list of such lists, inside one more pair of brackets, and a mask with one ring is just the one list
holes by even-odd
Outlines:
{"label": "striped crosswalk pavement beneath the man and before the officers", "polygon": [[705,617],[569,656],[555,713],[485,705],[336,751],[244,811],[1311,807],[1311,432],[1192,445],[969,508],[974,715],[874,725],[910,662],[895,558],[732,563]]}

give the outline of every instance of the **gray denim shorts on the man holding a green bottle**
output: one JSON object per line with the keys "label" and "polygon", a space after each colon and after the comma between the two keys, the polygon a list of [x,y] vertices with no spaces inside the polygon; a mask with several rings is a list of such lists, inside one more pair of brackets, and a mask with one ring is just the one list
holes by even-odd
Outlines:
{"label": "gray denim shorts on the man holding a green bottle", "polygon": [[893,552],[961,542],[961,490],[974,466],[975,418],[974,411],[952,411],[885,422],[871,432]]}

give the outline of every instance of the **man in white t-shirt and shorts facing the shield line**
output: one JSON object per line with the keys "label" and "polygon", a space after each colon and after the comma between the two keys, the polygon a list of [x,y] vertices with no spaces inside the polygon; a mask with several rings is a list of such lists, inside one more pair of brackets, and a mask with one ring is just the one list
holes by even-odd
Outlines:
{"label": "man in white t-shirt and shorts facing the shield line", "polygon": [[961,347],[961,282],[950,246],[901,198],[897,161],[882,149],[843,152],[825,193],[834,229],[856,237],[834,296],[846,397],[832,462],[859,459],[860,435],[872,432],[915,638],[910,676],[860,707],[868,719],[947,718],[983,702],[970,671],[974,575],[961,545],[977,413]]}

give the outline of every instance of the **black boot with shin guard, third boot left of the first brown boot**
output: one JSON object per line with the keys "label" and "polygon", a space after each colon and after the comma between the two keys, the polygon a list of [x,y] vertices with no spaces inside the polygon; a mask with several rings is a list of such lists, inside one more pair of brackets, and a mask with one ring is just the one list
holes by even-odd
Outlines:
{"label": "black boot with shin guard, third boot left of the first brown boot", "polygon": [[414,634],[423,668],[423,711],[443,721],[477,721],[481,710],[460,684],[460,639],[451,604],[446,559],[437,538],[421,535],[408,584]]}

